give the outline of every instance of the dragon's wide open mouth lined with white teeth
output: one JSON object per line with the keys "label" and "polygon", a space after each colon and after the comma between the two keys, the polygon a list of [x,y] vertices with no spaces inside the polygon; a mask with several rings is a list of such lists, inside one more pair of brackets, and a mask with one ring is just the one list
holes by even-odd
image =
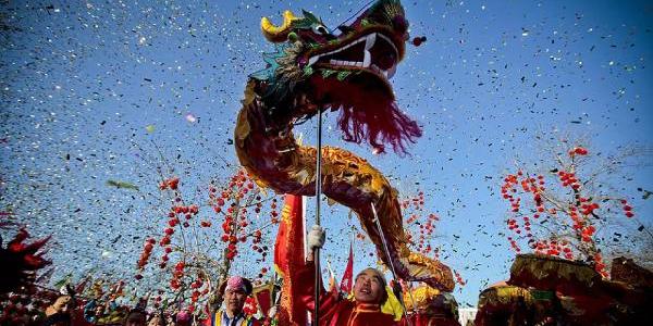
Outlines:
{"label": "dragon's wide open mouth lined with white teeth", "polygon": [[308,65],[369,72],[386,82],[396,73],[398,60],[399,51],[392,39],[373,32],[329,52],[310,57]]}

